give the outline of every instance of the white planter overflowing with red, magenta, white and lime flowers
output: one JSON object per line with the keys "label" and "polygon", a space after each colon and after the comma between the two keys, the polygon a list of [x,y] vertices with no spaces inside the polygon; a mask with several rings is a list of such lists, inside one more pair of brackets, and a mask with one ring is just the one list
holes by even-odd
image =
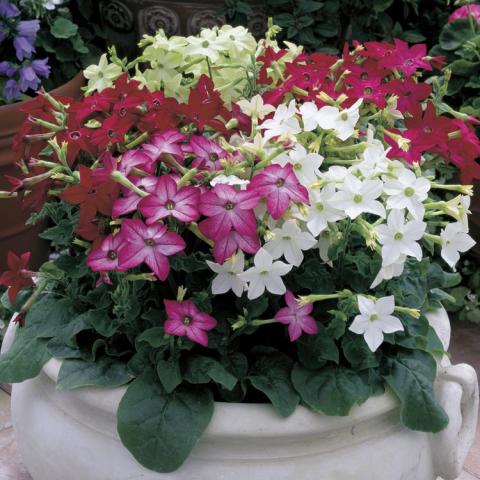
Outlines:
{"label": "white planter overflowing with red, magenta, white and lime flowers", "polygon": [[35,480],[460,473],[478,386],[441,301],[471,188],[436,169],[468,179],[479,140],[437,111],[424,46],[277,32],[160,32],[89,67],[81,101],[37,99],[43,170],[16,188],[57,257],[0,277]]}

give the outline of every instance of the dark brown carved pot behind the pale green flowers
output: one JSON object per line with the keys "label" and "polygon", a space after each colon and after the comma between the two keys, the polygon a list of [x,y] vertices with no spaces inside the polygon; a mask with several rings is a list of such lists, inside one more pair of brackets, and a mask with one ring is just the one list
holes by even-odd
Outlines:
{"label": "dark brown carved pot behind the pale green flowers", "polygon": [[[262,3],[252,2],[249,28],[256,36],[267,24]],[[193,35],[202,28],[224,25],[225,18],[217,13],[222,4],[223,0],[101,0],[99,7],[108,38],[123,55],[134,56],[142,35],[153,35],[159,28],[167,35]]]}

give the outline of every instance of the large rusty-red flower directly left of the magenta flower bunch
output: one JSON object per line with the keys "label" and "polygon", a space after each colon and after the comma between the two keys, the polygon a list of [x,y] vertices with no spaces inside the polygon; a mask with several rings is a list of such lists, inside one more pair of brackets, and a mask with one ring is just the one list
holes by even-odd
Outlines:
{"label": "large rusty-red flower directly left of the magenta flower bunch", "polygon": [[111,216],[112,205],[118,196],[118,185],[114,181],[99,181],[94,177],[93,170],[80,165],[80,183],[67,188],[60,198],[95,216],[97,212]]}

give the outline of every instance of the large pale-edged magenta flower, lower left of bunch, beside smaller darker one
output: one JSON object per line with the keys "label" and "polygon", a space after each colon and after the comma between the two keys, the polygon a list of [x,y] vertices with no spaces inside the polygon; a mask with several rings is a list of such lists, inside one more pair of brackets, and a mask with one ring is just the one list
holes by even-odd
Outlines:
{"label": "large pale-edged magenta flower, lower left of bunch, beside smaller darker one", "polygon": [[185,241],[163,224],[145,225],[141,220],[125,220],[120,230],[124,243],[119,249],[119,267],[128,270],[146,263],[160,280],[170,272],[168,256],[185,249]]}

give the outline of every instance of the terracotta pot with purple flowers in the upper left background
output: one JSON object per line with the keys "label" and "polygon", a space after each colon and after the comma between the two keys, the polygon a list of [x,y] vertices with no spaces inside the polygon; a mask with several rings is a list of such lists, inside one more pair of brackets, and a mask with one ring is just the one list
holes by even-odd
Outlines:
{"label": "terracotta pot with purple flowers in the upper left background", "polygon": [[[98,60],[103,41],[94,26],[86,27],[75,2],[27,0],[0,2],[0,188],[14,175],[12,152],[15,134],[28,114],[26,102],[39,89],[56,89],[58,95],[79,97],[84,79],[78,72]],[[33,263],[45,260],[46,243],[38,241],[38,228],[25,226],[28,212],[18,202],[2,202],[0,248],[32,250]],[[35,245],[35,247],[34,247]],[[0,268],[6,267],[4,259]]]}

